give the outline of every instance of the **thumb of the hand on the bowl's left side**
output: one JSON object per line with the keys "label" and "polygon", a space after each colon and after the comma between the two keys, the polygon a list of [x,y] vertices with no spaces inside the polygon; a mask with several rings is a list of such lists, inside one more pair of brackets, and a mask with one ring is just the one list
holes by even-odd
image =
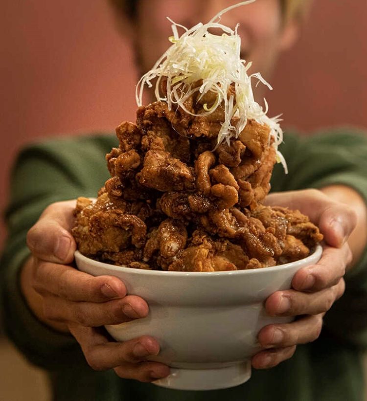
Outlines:
{"label": "thumb of the hand on the bowl's left side", "polygon": [[71,263],[76,244],[70,231],[75,201],[53,203],[28,231],[27,245],[32,254],[48,262]]}

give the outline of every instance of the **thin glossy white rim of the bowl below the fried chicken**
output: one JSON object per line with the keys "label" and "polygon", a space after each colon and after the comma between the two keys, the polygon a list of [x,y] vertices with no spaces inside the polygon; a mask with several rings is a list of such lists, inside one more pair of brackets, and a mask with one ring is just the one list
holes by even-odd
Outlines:
{"label": "thin glossy white rim of the bowl below the fried chicken", "polygon": [[[176,276],[176,277],[189,277],[189,276],[195,276],[196,278],[199,277],[223,277],[223,276],[235,276],[235,275],[251,275],[251,274],[258,274],[259,272],[277,272],[280,270],[286,270],[291,267],[298,267],[299,265],[302,266],[310,266],[314,263],[310,263],[307,265],[308,260],[320,260],[321,255],[322,255],[322,246],[320,244],[317,244],[314,248],[313,251],[310,255],[308,255],[306,258],[299,259],[298,261],[295,262],[290,262],[286,263],[284,265],[278,265],[278,266],[271,266],[271,267],[262,267],[262,268],[257,268],[257,269],[247,269],[247,270],[226,270],[226,271],[166,271],[166,270],[148,270],[148,269],[138,269],[134,267],[126,267],[126,266],[116,266],[116,265],[110,265],[108,263],[104,262],[99,262],[94,259],[88,258],[87,256],[84,256],[81,254],[78,250],[74,252],[74,257],[76,261],[84,261],[88,263],[89,265],[94,265],[94,266],[99,266],[99,267],[105,267],[108,268],[111,271],[118,271],[118,272],[125,272],[125,273],[130,273],[130,274],[137,274],[137,275],[145,275],[145,276]],[[91,263],[92,262],[92,263]],[[316,262],[317,263],[317,262]]]}

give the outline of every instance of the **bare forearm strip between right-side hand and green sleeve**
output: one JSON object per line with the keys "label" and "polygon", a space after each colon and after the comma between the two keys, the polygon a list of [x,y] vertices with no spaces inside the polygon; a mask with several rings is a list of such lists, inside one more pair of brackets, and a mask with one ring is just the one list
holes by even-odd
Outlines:
{"label": "bare forearm strip between right-side hand and green sleeve", "polygon": [[357,225],[348,239],[353,254],[351,267],[361,258],[367,244],[367,206],[363,198],[354,189],[344,185],[330,185],[321,189],[334,201],[347,204],[357,215]]}

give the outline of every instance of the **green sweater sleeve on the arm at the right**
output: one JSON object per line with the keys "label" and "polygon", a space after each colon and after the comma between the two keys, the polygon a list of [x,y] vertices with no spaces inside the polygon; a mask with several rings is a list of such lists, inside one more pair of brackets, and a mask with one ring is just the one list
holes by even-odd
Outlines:
{"label": "green sweater sleeve on the arm at the right", "polygon": [[[338,129],[309,137],[285,134],[279,148],[289,174],[275,166],[272,191],[322,188],[344,184],[367,204],[367,135]],[[367,347],[367,248],[345,275],[346,290],[325,315],[325,329],[339,339]]]}

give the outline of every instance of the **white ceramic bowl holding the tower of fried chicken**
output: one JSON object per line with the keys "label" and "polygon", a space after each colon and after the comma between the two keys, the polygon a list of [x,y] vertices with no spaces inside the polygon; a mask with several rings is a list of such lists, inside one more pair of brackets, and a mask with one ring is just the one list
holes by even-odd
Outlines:
{"label": "white ceramic bowl holding the tower of fried chicken", "polygon": [[151,358],[171,366],[171,375],[155,384],[184,390],[213,390],[244,383],[251,377],[250,358],[261,348],[260,329],[292,318],[270,317],[264,301],[291,288],[300,267],[319,261],[318,245],[305,259],[276,267],[221,272],[176,272],[117,267],[89,259],[78,251],[80,270],[120,278],[128,294],[145,299],[144,319],[106,326],[117,341],[152,335],[161,346]]}

